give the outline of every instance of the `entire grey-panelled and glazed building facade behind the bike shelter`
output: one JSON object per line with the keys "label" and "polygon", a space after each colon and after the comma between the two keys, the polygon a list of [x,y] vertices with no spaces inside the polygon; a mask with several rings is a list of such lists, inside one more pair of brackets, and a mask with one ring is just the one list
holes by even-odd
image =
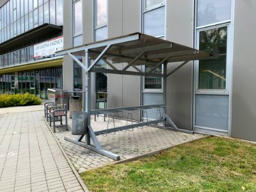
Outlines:
{"label": "entire grey-panelled and glazed building facade behind the bike shelter", "polygon": [[[20,6],[22,3],[28,4],[28,7],[24,6],[24,13],[17,11],[18,4]],[[60,4],[63,9],[59,8]],[[189,61],[168,77],[167,113],[177,127],[256,141],[256,91],[253,88],[256,80],[253,48],[256,42],[253,34],[256,28],[252,25],[256,18],[255,8],[256,2],[240,0],[4,1],[0,19],[1,90],[2,93],[27,92],[29,87],[31,93],[35,90],[35,94],[42,98],[47,98],[45,90],[49,87],[85,90],[85,74],[69,56],[35,58],[29,52],[29,46],[63,35],[64,49],[68,49],[141,32],[213,55],[211,60]],[[40,12],[42,9],[46,13]],[[7,10],[13,13],[9,19],[4,16]],[[65,15],[62,22],[61,14]],[[19,26],[17,23],[21,23],[21,20],[24,23]],[[63,26],[63,31],[61,28],[50,35],[45,34],[49,38],[36,36],[24,44],[9,43],[10,40],[17,42],[15,38],[26,36],[47,24],[51,24],[52,28]],[[10,47],[2,50],[1,46],[6,45]],[[26,56],[22,53],[23,49],[26,49]],[[19,59],[16,59],[17,55]],[[77,57],[83,61],[83,56]],[[59,64],[51,63],[58,63],[59,60]],[[39,64],[32,67],[40,62],[49,62],[47,67],[50,68],[39,68],[38,71]],[[32,68],[28,70],[18,68],[29,65]],[[124,68],[126,65],[120,63],[117,67]],[[168,65],[168,72],[178,65],[180,63]],[[98,67],[106,67],[106,64],[102,61]],[[61,74],[56,72],[58,68]],[[158,72],[162,69],[157,68]],[[143,67],[141,70],[150,69]],[[15,76],[18,88],[15,88]],[[60,77],[63,79],[61,86],[56,81]],[[158,77],[93,74],[92,82],[92,98],[97,97],[98,92],[108,92],[108,108],[163,102],[163,80]],[[116,115],[122,117],[121,113]],[[138,112],[134,116],[141,118]],[[149,118],[155,116],[155,111],[150,111]]]}

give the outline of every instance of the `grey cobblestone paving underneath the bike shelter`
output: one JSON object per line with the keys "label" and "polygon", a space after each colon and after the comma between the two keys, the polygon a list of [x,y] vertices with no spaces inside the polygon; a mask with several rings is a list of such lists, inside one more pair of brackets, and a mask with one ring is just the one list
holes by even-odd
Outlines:
{"label": "grey cobblestone paving underneath the bike shelter", "polygon": [[[91,123],[94,131],[106,129],[107,127],[107,122],[104,122],[102,117],[97,118],[97,122],[95,122],[94,116],[92,116]],[[113,127],[113,122],[110,121],[110,123]],[[69,131],[57,128],[56,136],[79,173],[114,162],[113,159],[65,141],[64,136],[76,138],[76,136],[71,134],[71,124],[72,120],[68,118]],[[126,125],[126,121],[116,119],[115,126],[118,127],[120,125]],[[134,128],[134,131],[120,131],[116,132],[115,135],[108,134],[106,137],[97,136],[103,149],[120,154],[121,159],[141,156],[202,137],[204,137],[202,134],[186,134],[183,132],[158,129],[156,127]]]}

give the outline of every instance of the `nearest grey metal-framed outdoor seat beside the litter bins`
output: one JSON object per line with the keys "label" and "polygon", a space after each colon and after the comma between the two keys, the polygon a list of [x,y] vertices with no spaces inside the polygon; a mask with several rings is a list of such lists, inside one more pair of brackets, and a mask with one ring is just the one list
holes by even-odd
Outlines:
{"label": "nearest grey metal-framed outdoor seat beside the litter bins", "polygon": [[[67,109],[61,109],[59,106],[53,106],[49,108],[50,116],[50,126],[53,123],[53,132],[56,132],[56,127],[66,127],[68,130],[68,119],[67,119]],[[62,123],[62,116],[65,116],[65,125]],[[56,125],[56,122],[60,122],[60,125]]]}

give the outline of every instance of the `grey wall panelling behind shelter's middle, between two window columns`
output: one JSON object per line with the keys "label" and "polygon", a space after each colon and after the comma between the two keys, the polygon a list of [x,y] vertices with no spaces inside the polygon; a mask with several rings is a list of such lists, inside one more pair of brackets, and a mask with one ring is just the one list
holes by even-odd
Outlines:
{"label": "grey wall panelling behind shelter's middle, between two window columns", "polygon": [[[109,0],[108,9],[108,38],[140,31],[140,1]],[[120,63],[118,68],[122,69],[125,65]],[[140,83],[137,76],[108,74],[108,108],[139,106]],[[132,115],[139,119],[138,111]],[[122,114],[119,113],[119,116],[122,117]]]}

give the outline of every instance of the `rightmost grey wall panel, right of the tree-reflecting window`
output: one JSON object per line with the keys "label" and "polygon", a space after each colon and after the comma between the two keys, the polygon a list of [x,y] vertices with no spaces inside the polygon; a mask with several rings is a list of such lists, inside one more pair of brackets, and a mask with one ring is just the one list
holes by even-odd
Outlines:
{"label": "rightmost grey wall panel, right of the tree-reflecting window", "polygon": [[231,136],[256,141],[256,1],[235,1]]}

